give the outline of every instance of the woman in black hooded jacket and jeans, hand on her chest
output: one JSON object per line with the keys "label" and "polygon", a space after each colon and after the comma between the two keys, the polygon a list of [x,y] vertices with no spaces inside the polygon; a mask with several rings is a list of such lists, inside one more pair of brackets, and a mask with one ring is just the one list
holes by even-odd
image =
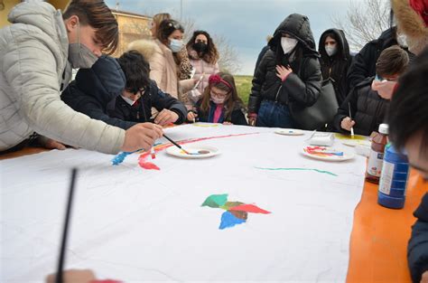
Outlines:
{"label": "woman in black hooded jacket and jeans, hand on her chest", "polygon": [[321,89],[320,54],[315,50],[308,17],[287,16],[269,46],[253,79],[248,122],[257,127],[298,127],[290,103],[312,106]]}

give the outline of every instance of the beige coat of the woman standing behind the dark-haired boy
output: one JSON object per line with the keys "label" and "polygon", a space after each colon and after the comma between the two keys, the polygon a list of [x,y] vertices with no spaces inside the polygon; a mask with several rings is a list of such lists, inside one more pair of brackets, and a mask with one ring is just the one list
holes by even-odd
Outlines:
{"label": "beige coat of the woman standing behind the dark-haired boy", "polygon": [[138,40],[131,42],[128,50],[136,50],[143,54],[150,63],[150,79],[156,81],[159,89],[187,103],[187,96],[183,95],[191,90],[194,80],[178,80],[177,64],[172,51],[159,40]]}

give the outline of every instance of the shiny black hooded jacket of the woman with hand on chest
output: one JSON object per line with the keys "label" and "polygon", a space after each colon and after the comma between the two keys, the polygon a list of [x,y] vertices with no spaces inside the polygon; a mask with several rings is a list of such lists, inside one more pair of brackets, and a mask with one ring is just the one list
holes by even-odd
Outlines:
{"label": "shiny black hooded jacket of the woman with hand on chest", "polygon": [[[284,55],[281,47],[283,33],[291,34],[298,41],[290,56]],[[320,55],[315,50],[308,18],[301,14],[289,15],[276,28],[269,46],[270,50],[260,61],[253,79],[248,112],[257,113],[264,99],[283,104],[296,102],[302,107],[315,103],[321,89]],[[275,66],[287,64],[293,72],[283,82],[276,76]]]}

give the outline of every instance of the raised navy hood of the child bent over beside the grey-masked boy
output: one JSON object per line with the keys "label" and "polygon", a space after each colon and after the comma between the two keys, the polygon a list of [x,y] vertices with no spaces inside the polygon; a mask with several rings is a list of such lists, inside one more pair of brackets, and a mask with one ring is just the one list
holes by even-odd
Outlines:
{"label": "raised navy hood of the child bent over beside the grey-masked boy", "polygon": [[80,69],[76,74],[76,86],[101,105],[107,105],[122,94],[126,87],[125,73],[115,58],[103,55],[90,69]]}

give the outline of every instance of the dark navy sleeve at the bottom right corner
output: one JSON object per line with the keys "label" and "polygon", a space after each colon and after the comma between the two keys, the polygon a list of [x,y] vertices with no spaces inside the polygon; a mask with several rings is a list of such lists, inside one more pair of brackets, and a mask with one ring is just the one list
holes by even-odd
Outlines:
{"label": "dark navy sleeve at the bottom right corner", "polygon": [[428,271],[428,193],[414,212],[417,221],[412,227],[412,237],[407,246],[407,261],[414,283],[421,281],[423,272]]}

